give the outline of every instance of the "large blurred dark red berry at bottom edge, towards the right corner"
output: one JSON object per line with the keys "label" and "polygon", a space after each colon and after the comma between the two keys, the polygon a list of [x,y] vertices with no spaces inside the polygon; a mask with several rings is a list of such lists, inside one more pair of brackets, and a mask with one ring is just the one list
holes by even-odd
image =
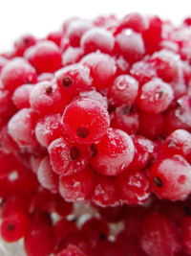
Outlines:
{"label": "large blurred dark red berry at bottom edge, towards the right corner", "polygon": [[180,251],[176,225],[155,212],[142,221],[140,242],[143,250],[150,256],[174,256]]}

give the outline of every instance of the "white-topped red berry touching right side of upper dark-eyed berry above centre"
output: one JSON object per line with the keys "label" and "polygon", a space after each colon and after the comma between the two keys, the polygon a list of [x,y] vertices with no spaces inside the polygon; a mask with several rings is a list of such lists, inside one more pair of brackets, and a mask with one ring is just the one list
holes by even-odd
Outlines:
{"label": "white-topped red berry touching right side of upper dark-eyed berry above centre", "polygon": [[115,59],[109,55],[92,53],[82,58],[80,62],[90,68],[90,75],[96,89],[110,86],[114,81],[117,66]]}

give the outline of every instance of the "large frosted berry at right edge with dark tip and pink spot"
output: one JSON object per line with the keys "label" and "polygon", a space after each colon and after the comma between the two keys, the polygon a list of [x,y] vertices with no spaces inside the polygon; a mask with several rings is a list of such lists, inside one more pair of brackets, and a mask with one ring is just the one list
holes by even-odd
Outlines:
{"label": "large frosted berry at right edge with dark tip and pink spot", "polygon": [[191,166],[179,154],[154,163],[150,181],[158,198],[184,200],[191,192]]}

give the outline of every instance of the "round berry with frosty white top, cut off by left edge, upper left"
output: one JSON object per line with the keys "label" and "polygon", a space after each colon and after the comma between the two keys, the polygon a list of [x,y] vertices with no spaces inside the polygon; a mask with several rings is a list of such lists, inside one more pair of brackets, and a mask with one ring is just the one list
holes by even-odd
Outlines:
{"label": "round berry with frosty white top, cut off by left edge, upper left", "polygon": [[35,83],[34,68],[24,58],[13,58],[3,68],[1,73],[2,87],[13,91],[24,83]]}

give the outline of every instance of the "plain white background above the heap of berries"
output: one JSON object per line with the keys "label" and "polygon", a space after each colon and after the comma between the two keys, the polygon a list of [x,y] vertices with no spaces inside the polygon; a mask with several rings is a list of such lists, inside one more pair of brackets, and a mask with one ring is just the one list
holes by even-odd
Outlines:
{"label": "plain white background above the heap of berries", "polygon": [[44,36],[60,28],[69,16],[128,12],[159,14],[177,24],[191,15],[191,0],[0,0],[0,51],[11,49],[19,35]]}

